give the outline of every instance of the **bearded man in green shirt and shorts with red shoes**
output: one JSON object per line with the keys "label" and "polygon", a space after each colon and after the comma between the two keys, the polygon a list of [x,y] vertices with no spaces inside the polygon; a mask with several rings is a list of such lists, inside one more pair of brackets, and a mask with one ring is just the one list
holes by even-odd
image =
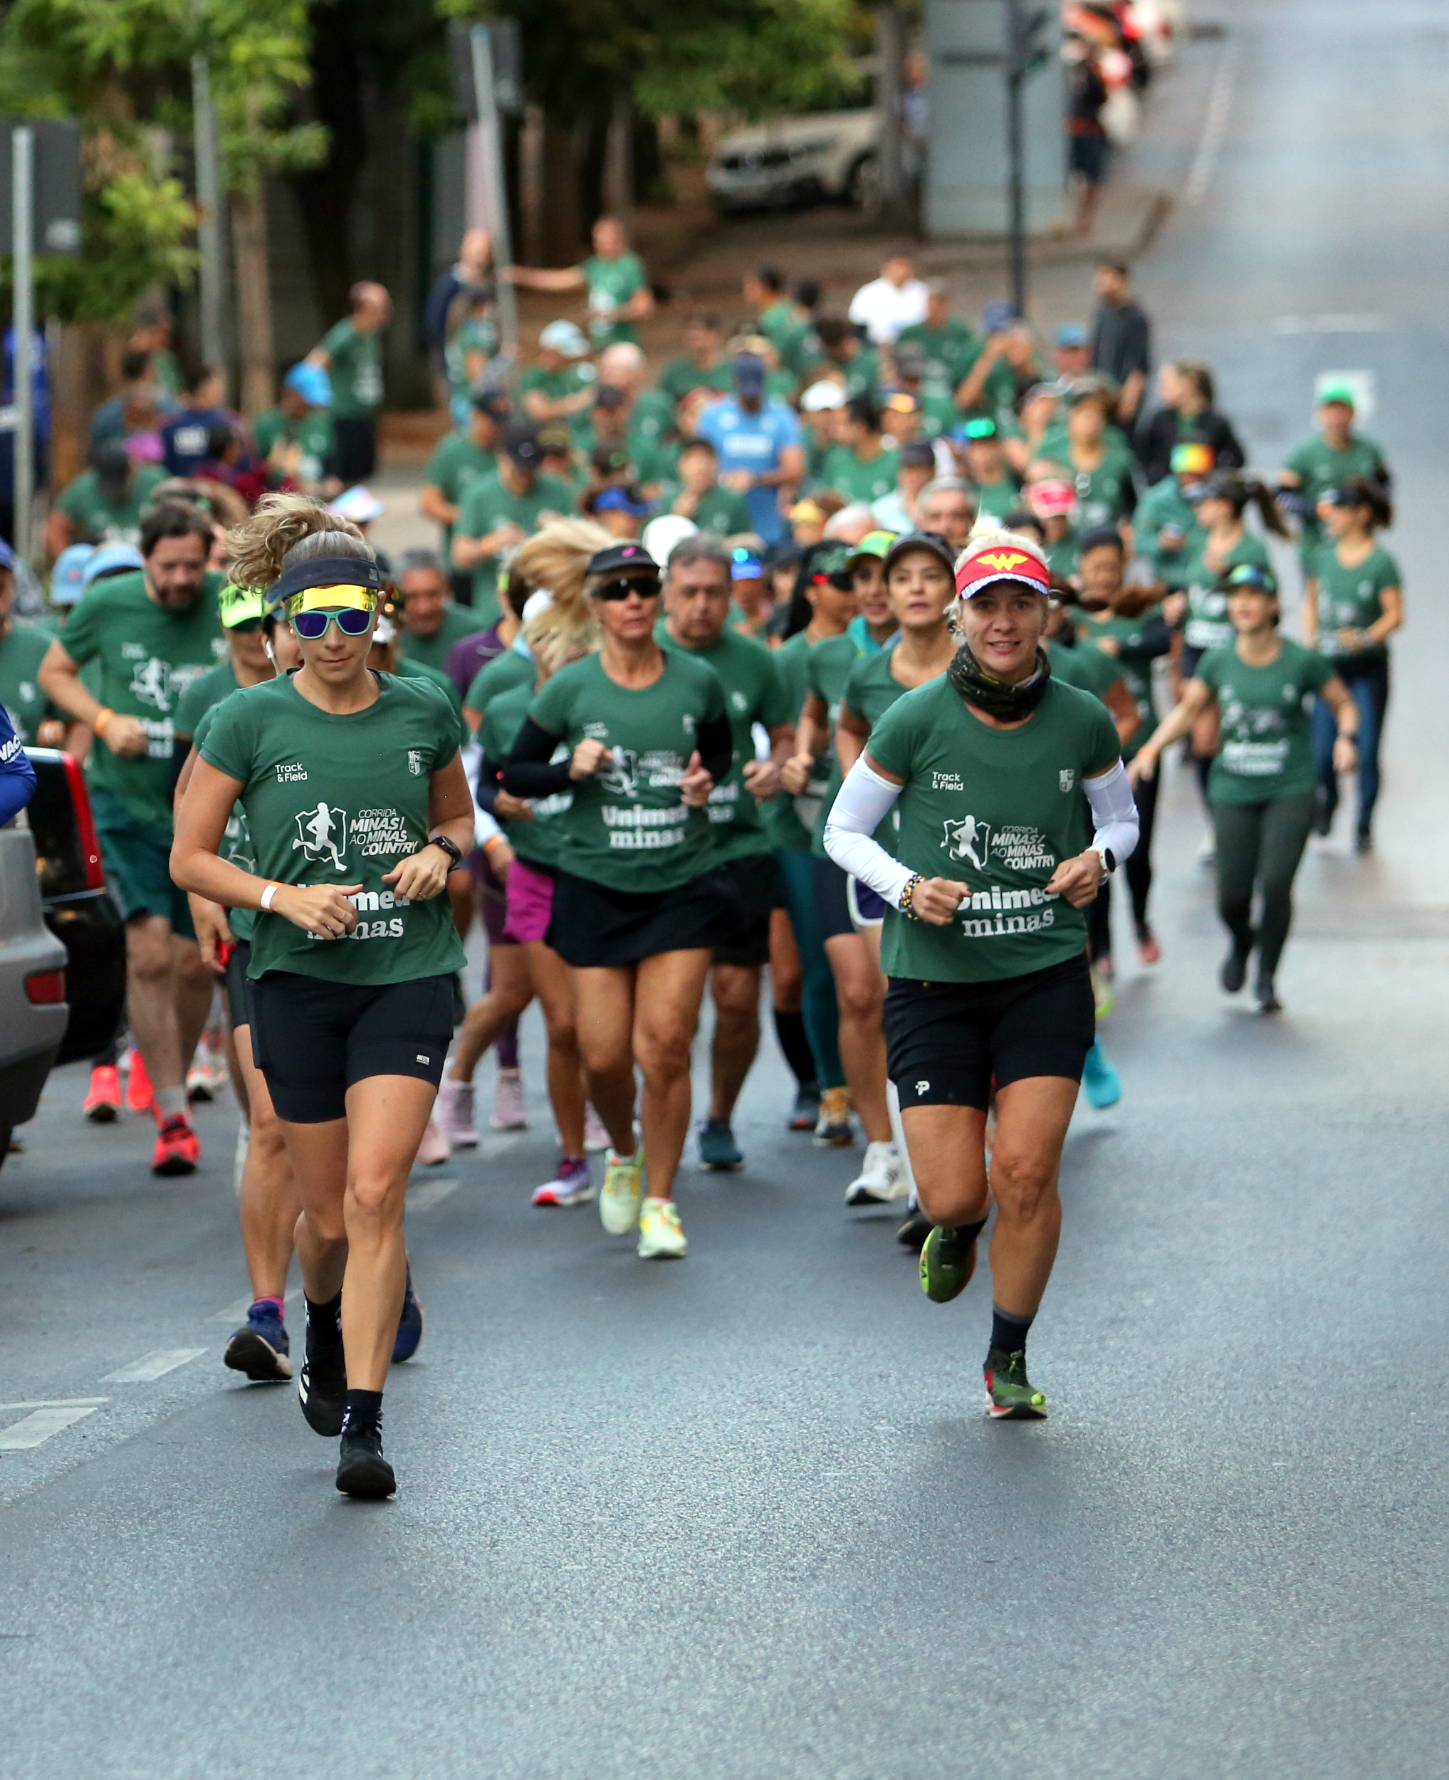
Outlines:
{"label": "bearded man in green shirt and shorts with red shoes", "polygon": [[[226,655],[210,552],[205,514],[153,507],[141,527],[144,570],[93,582],[39,669],[50,700],[94,732],[85,758],[91,810],[126,920],[130,1025],[155,1091],[151,1168],[162,1175],[189,1175],[201,1157],[185,1077],[215,988],[171,874],[176,705]],[[96,694],[80,678],[91,662],[100,669]]]}

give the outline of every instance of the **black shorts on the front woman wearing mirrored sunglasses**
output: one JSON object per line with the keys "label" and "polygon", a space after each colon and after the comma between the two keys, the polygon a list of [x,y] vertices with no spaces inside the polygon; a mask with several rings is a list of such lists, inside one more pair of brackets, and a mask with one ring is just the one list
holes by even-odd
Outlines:
{"label": "black shorts on the front woman wearing mirrored sunglasses", "polygon": [[247,981],[251,1048],[278,1118],[322,1125],[347,1116],[347,1089],[368,1075],[436,1088],[452,1041],[452,975],[413,983],[328,983],[292,970]]}

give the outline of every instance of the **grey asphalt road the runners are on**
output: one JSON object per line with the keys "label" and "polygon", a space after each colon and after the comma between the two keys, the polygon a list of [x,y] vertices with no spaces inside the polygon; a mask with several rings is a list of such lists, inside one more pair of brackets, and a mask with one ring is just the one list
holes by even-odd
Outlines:
{"label": "grey asphalt road the runners are on", "polygon": [[1449,30],[1219,16],[1225,130],[1143,290],[1262,465],[1315,370],[1372,372],[1410,628],[1380,851],[1314,844],[1280,1020],[1214,988],[1170,785],[1164,961],[1123,970],[1127,1095],[1073,1127],[1032,1335],[1052,1420],[983,1419],[988,1282],[922,1298],[842,1159],[781,1134],[771,1056],[749,1169],[684,1177],[682,1266],[529,1209],[538,1096],[418,1180],[402,1488],[347,1504],[290,1392],[219,1363],[230,1105],[153,1182],[64,1072],[0,1177],[0,1444],[89,1412],[0,1451],[5,1780],[1444,1775]]}

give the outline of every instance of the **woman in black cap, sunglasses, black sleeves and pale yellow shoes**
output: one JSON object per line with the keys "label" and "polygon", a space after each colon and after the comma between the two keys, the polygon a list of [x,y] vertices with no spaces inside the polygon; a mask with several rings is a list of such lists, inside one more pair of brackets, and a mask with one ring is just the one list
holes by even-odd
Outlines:
{"label": "woman in black cap, sunglasses, black sleeves and pale yellow shoes", "polygon": [[[660,650],[659,593],[659,568],[637,543],[589,559],[600,653],[538,692],[504,769],[504,790],[520,797],[573,790],[559,817],[566,867],[548,938],[575,968],[589,1098],[612,1141],[600,1219],[612,1235],[637,1221],[644,1260],[687,1253],[673,1182],[689,1130],[689,1047],[712,949],[730,933],[707,813],[733,760],[724,691],[712,668]],[[570,758],[552,764],[561,742]]]}

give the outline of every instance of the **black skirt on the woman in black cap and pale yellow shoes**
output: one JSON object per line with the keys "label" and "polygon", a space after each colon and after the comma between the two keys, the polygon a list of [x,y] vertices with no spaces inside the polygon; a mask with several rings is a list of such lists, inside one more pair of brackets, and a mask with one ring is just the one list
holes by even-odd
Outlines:
{"label": "black skirt on the woman in black cap and pale yellow shoes", "polygon": [[575,970],[637,965],[660,952],[723,945],[732,933],[717,870],[675,890],[609,890],[571,872],[554,879],[548,945]]}

